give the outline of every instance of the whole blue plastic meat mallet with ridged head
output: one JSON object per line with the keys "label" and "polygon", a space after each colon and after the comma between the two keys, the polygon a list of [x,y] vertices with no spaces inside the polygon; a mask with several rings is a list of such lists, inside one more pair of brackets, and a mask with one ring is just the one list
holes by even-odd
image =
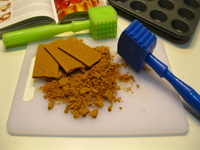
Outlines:
{"label": "whole blue plastic meat mallet with ridged head", "polygon": [[168,66],[153,54],[157,38],[155,34],[134,20],[121,34],[118,41],[118,54],[136,71],[139,72],[147,63],[162,78],[165,78],[176,89],[180,96],[200,115],[200,95],[174,76]]}

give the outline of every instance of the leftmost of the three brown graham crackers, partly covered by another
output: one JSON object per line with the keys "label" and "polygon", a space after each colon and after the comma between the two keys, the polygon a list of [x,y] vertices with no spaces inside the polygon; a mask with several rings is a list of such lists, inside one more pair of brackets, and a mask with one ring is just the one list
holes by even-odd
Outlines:
{"label": "leftmost of the three brown graham crackers, partly covered by another", "polygon": [[46,44],[39,44],[33,69],[33,78],[58,78],[59,65],[45,50]]}

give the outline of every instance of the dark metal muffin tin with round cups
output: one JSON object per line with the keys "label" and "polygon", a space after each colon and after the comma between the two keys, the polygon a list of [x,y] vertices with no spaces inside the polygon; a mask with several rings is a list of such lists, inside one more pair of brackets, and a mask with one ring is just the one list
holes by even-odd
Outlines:
{"label": "dark metal muffin tin with round cups", "polygon": [[200,17],[198,0],[108,0],[109,4],[175,38],[192,36]]}

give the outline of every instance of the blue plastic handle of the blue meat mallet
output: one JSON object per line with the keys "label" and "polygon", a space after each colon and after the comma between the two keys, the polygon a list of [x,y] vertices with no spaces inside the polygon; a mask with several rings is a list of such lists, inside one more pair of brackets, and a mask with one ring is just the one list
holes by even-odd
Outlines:
{"label": "blue plastic handle of the blue meat mallet", "polygon": [[149,53],[145,62],[162,78],[165,78],[176,89],[180,96],[200,115],[200,95],[174,76],[168,66]]}

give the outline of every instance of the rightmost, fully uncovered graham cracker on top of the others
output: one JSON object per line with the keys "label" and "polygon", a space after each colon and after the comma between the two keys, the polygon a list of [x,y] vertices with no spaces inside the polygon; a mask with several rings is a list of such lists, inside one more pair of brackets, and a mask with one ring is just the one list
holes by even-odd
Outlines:
{"label": "rightmost, fully uncovered graham cracker on top of the others", "polygon": [[74,37],[67,38],[59,48],[89,68],[101,59],[100,52]]}

